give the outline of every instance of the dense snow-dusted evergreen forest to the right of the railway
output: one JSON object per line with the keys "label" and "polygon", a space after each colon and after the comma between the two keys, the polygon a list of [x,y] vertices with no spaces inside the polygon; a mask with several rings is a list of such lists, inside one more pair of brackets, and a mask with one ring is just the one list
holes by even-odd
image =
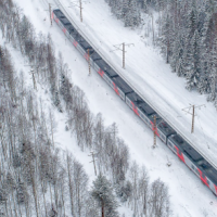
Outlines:
{"label": "dense snow-dusted evergreen forest to the right of the railway", "polygon": [[[151,18],[153,43],[186,88],[205,94],[217,107],[216,0],[105,0],[126,27],[137,28]],[[153,21],[153,20],[152,20]]]}

